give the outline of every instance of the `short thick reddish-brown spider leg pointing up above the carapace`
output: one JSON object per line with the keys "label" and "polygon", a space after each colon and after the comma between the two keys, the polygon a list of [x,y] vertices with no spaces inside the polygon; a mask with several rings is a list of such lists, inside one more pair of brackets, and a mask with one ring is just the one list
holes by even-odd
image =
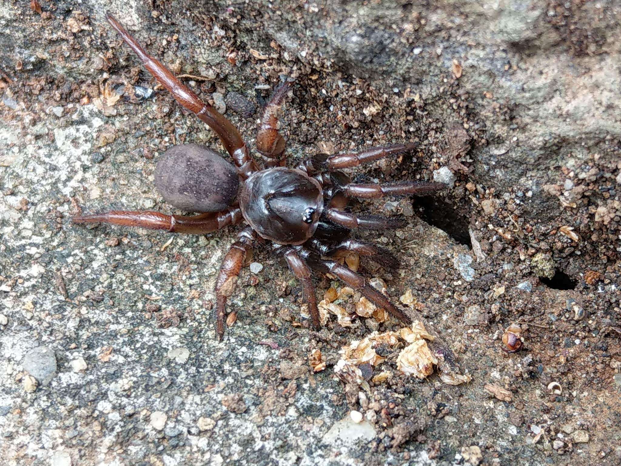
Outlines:
{"label": "short thick reddish-brown spider leg pointing up above the carapace", "polygon": [[[289,91],[289,82],[278,86],[263,110],[263,116],[256,133],[256,149],[264,157],[271,158],[268,167],[279,165],[283,155],[285,140],[278,132],[278,111],[283,104],[284,96]],[[276,160],[274,160],[276,159]]]}

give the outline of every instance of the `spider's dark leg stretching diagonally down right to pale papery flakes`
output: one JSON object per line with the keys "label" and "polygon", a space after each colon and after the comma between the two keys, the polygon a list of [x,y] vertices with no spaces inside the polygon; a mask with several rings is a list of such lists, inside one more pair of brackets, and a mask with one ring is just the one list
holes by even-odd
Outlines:
{"label": "spider's dark leg stretching diagonally down right to pale papery flakes", "polygon": [[382,295],[379,291],[373,288],[373,286],[366,283],[366,278],[362,275],[352,272],[349,268],[343,267],[343,265],[340,265],[340,263],[333,260],[324,260],[320,258],[319,255],[308,249],[301,249],[300,251],[302,258],[306,260],[306,263],[313,270],[322,273],[332,273],[332,275],[337,276],[339,280],[351,286],[351,288],[360,290],[360,293],[362,293],[379,308],[386,309],[386,311],[392,314],[392,316],[402,322],[406,322],[407,324],[412,323],[412,319],[410,319],[404,311],[394,306],[389,299],[386,298],[386,296]]}

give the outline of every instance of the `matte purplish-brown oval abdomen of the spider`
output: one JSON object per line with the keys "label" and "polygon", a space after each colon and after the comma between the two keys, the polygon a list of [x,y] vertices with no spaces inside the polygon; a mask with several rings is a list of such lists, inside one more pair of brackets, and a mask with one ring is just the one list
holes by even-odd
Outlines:
{"label": "matte purplish-brown oval abdomen of the spider", "polygon": [[189,212],[219,212],[237,198],[237,170],[197,144],[166,150],[155,168],[155,187],[166,203]]}

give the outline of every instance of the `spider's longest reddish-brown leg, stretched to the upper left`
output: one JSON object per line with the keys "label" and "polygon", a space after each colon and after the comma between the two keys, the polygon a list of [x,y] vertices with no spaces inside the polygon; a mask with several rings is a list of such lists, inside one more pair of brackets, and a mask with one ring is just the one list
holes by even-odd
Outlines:
{"label": "spider's longest reddish-brown leg, stretched to the upper left", "polygon": [[235,160],[240,175],[247,178],[250,173],[258,170],[256,162],[248,153],[248,148],[243,142],[237,128],[227,120],[222,114],[214,109],[211,105],[205,104],[190,89],[181,83],[172,71],[162,65],[158,60],[148,55],[144,48],[132,37],[129,32],[112,16],[110,12],[106,14],[108,22],[120,34],[125,43],[134,50],[134,53],[140,58],[142,64],[147,68],[156,80],[168,90],[173,97],[183,107],[194,112],[197,117],[206,122],[212,130],[222,140],[222,144]]}

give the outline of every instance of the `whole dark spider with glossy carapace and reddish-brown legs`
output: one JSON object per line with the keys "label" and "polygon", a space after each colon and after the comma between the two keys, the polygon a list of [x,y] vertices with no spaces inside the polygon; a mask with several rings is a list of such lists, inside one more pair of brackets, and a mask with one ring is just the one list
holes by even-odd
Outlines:
{"label": "whole dark spider with glossy carapace and reddish-brown legs", "polygon": [[265,158],[260,168],[248,152],[238,130],[214,107],[203,103],[164,65],[144,48],[112,16],[107,21],[142,61],[143,66],[183,107],[194,112],[220,137],[235,167],[213,150],[196,144],[176,145],[166,151],[155,168],[155,186],[166,203],[193,216],[166,215],[153,211],[109,211],[73,218],[73,222],[109,223],[186,234],[206,234],[245,222],[237,240],[225,255],[215,282],[218,340],[224,337],[225,305],[237,284],[247,255],[257,240],[271,242],[274,255],[284,257],[302,285],[312,319],[319,329],[317,298],[312,271],[331,273],[376,306],[397,319],[411,323],[404,311],[370,286],[366,279],[335,260],[324,257],[355,252],[386,268],[399,263],[388,250],[350,238],[351,229],[396,229],[405,225],[400,217],[358,215],[345,208],[349,198],[379,199],[389,195],[428,194],[445,188],[442,183],[351,183],[342,168],[357,167],[390,155],[406,152],[414,144],[374,147],[358,153],[314,155],[296,168],[283,165],[285,141],[279,134],[278,111],[291,83],[279,86],[260,119],[256,148]]}

